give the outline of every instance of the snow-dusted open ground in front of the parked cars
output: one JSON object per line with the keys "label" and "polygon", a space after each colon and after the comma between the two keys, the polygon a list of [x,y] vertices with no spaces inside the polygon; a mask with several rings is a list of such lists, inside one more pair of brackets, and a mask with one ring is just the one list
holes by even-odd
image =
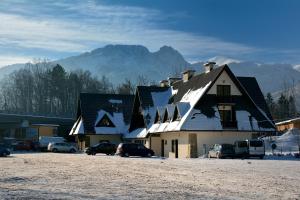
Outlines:
{"label": "snow-dusted open ground in front of the parked cars", "polygon": [[300,161],[24,153],[0,158],[0,199],[300,199]]}

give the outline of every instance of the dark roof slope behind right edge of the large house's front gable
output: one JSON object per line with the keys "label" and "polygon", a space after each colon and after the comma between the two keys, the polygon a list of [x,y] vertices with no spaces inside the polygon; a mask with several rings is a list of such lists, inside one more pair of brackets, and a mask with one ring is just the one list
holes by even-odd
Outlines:
{"label": "dark roof slope behind right edge of the large house's front gable", "polygon": [[254,103],[262,109],[269,119],[272,119],[270,110],[268,108],[268,105],[266,103],[266,100],[264,98],[263,93],[261,92],[261,89],[256,81],[256,78],[254,77],[237,77],[239,82],[243,85],[247,93],[250,95]]}

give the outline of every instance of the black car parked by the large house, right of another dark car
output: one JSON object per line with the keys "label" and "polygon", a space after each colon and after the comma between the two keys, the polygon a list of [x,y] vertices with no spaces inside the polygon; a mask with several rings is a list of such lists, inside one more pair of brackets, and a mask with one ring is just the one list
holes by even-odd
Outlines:
{"label": "black car parked by the large house, right of another dark car", "polygon": [[151,157],[154,156],[154,152],[151,149],[146,148],[142,144],[135,143],[120,143],[117,148],[117,155],[122,157],[129,156],[142,156],[142,157]]}

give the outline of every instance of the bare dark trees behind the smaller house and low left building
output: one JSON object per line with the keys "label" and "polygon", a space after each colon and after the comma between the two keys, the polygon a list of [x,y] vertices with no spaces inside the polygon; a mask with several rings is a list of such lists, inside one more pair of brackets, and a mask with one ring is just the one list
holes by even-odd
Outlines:
{"label": "bare dark trees behind the smaller house and low left building", "polygon": [[89,71],[67,72],[61,65],[44,60],[28,63],[0,83],[0,110],[6,113],[74,117],[79,94],[133,94],[137,84],[146,84],[139,76],[134,84],[126,79],[114,86],[106,76],[100,79]]}

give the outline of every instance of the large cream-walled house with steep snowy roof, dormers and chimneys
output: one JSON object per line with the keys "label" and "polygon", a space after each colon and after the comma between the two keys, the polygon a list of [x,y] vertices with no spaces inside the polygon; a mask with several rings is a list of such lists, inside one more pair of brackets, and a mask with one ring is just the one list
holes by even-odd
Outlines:
{"label": "large cream-walled house with steep snowy roof, dormers and chimneys", "polygon": [[138,86],[128,134],[156,155],[194,158],[215,143],[272,135],[275,125],[253,77],[236,77],[227,65],[183,73],[161,86]]}

